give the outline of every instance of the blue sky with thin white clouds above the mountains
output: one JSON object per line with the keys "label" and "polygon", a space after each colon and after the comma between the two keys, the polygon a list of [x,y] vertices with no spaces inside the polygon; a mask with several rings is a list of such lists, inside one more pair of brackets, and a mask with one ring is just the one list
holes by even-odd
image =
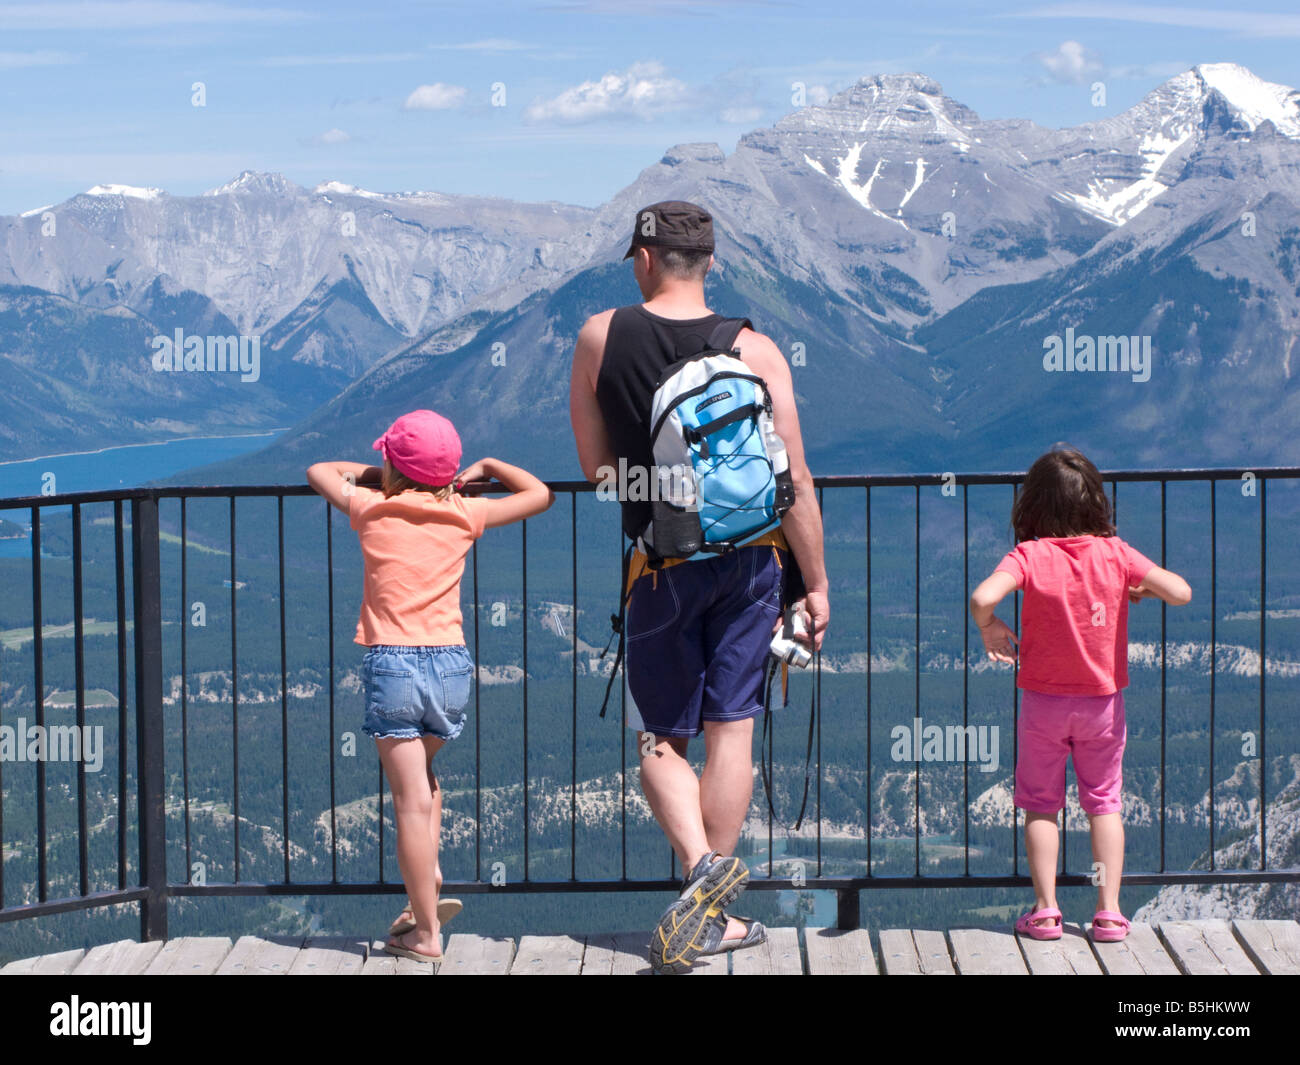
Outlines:
{"label": "blue sky with thin white clouds above the mountains", "polygon": [[1294,1],[1247,3],[0,0],[0,213],[244,169],[594,205],[672,144],[731,151],[796,82],[818,99],[876,73],[1048,126],[1197,62],[1300,85]]}

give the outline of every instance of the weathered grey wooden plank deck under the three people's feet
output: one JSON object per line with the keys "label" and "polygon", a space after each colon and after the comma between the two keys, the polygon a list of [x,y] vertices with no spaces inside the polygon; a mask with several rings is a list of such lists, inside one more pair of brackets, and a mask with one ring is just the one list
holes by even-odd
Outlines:
{"label": "weathered grey wooden plank deck under the three people's feet", "polygon": [[[1122,943],[1093,943],[1066,925],[1054,943],[1005,928],[948,932],[770,928],[767,943],[708,958],[703,975],[1260,975],[1300,974],[1295,921],[1173,921],[1134,925]],[[451,934],[438,965],[396,958],[384,940],[186,936],[122,940],[13,961],[0,975],[632,975],[649,973],[647,934],[506,938]]]}

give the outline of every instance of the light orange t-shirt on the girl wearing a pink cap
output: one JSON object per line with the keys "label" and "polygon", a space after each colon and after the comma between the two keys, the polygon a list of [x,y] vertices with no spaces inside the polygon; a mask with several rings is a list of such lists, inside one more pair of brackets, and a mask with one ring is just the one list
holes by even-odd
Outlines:
{"label": "light orange t-shirt on the girl wearing a pink cap", "polygon": [[354,642],[364,646],[464,644],[460,575],[484,533],[488,501],[452,493],[382,492],[356,486],[348,518],[361,540],[365,583]]}

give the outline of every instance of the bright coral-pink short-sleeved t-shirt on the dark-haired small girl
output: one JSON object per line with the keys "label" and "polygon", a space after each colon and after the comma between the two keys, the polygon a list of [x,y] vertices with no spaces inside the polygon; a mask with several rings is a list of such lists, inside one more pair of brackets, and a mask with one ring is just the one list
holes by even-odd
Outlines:
{"label": "bright coral-pink short-sleeved t-shirt on the dark-haired small girl", "polygon": [[1049,696],[1128,687],[1128,588],[1154,562],[1118,536],[1026,540],[994,572],[1024,593],[1015,685]]}

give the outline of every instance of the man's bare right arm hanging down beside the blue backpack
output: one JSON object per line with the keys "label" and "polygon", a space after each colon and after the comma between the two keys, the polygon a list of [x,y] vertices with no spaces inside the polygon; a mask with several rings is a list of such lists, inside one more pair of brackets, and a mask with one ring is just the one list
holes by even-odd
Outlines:
{"label": "man's bare right arm hanging down beside the blue backpack", "polygon": [[790,462],[790,480],[794,482],[794,506],[781,520],[781,532],[794,553],[807,589],[807,610],[816,624],[816,645],[831,622],[829,584],[826,575],[826,554],[822,544],[822,510],[818,507],[812,473],[803,456],[803,436],[800,432],[800,414],[794,406],[794,382],[785,356],[762,333],[742,329],[737,338],[741,358],[767,382],[772,394],[772,419],[776,433],[785,445]]}

